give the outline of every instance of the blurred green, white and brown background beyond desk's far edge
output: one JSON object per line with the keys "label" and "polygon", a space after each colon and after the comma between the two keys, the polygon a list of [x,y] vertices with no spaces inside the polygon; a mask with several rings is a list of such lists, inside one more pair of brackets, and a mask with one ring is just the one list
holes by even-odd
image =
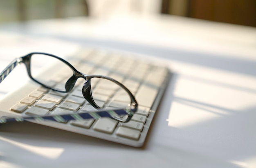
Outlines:
{"label": "blurred green, white and brown background beyond desk's far edge", "polygon": [[256,27],[256,0],[0,0],[0,23],[132,13],[170,14]]}

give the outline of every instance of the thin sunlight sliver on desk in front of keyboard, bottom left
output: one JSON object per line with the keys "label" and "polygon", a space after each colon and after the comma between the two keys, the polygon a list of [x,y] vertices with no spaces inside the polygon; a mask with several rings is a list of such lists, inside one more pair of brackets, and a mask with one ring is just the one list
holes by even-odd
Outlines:
{"label": "thin sunlight sliver on desk in front of keyboard, bottom left", "polygon": [[[20,143],[17,141],[13,141],[11,139],[7,139],[4,137],[0,137],[0,140],[11,143],[14,146],[27,150],[36,155],[40,155],[42,157],[48,159],[57,159],[64,152],[63,148],[49,148],[49,147],[41,147],[41,146],[32,146],[25,143]],[[1,167],[1,166],[0,166]]]}

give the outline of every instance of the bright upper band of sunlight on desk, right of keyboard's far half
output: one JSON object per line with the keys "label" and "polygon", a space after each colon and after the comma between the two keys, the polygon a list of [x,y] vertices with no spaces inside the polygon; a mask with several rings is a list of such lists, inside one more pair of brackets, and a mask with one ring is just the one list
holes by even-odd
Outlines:
{"label": "bright upper band of sunlight on desk, right of keyboard's far half", "polygon": [[[243,83],[243,81],[236,80],[233,80],[233,82]],[[256,80],[254,84],[256,85]],[[256,104],[256,94],[254,92],[217,85],[213,82],[193,80],[186,76],[178,78],[173,96],[225,110],[245,109]]]}

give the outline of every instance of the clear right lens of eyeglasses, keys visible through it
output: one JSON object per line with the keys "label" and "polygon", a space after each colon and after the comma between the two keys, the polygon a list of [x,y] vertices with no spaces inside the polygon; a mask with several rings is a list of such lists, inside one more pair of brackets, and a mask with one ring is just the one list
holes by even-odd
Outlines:
{"label": "clear right lens of eyeglasses, keys visible through it", "polygon": [[115,82],[103,78],[91,79],[92,98],[104,109],[124,109],[130,104],[129,94]]}

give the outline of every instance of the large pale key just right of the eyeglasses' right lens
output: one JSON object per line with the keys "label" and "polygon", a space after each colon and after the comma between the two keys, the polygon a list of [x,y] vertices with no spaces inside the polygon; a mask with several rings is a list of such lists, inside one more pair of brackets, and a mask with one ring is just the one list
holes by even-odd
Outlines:
{"label": "large pale key just right of the eyeglasses' right lens", "polygon": [[135,98],[139,105],[150,108],[157,96],[157,93],[157,87],[150,87],[146,84],[142,84],[135,95]]}

